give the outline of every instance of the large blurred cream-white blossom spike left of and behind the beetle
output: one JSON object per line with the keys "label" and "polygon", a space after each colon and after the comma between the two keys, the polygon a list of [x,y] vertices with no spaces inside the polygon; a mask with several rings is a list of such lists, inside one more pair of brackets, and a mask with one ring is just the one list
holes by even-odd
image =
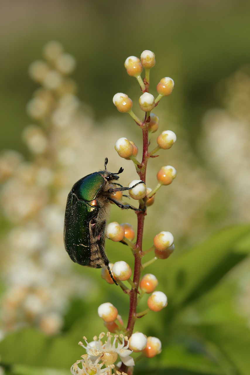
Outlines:
{"label": "large blurred cream-white blossom spike left of and behind the beetle", "polygon": [[[64,210],[73,183],[110,156],[110,144],[118,138],[116,120],[105,127],[94,123],[67,76],[75,59],[60,43],[49,42],[44,56],[29,69],[40,85],[27,104],[31,123],[22,132],[30,161],[12,150],[0,154],[1,214],[9,225],[0,243],[3,334],[31,325],[53,335],[70,299],[97,294],[93,280],[73,272],[63,244]],[[108,126],[111,141],[102,143],[101,158],[93,149],[106,139]],[[114,170],[120,166],[114,162]]]}

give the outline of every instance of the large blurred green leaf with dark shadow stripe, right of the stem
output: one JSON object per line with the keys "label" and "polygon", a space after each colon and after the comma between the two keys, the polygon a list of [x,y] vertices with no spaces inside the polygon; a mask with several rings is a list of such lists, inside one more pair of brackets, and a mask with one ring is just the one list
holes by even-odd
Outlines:
{"label": "large blurred green leaf with dark shadow stripe, right of the stem", "polygon": [[237,251],[237,243],[249,232],[249,225],[229,227],[180,257],[169,258],[165,284],[170,306],[177,308],[207,293],[243,260],[246,254]]}

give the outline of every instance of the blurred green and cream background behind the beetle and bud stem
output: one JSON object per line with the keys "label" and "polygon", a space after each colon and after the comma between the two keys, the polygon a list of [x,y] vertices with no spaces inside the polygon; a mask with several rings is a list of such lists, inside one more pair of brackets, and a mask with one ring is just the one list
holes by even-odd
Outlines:
{"label": "blurred green and cream background behind the beetle and bud stem", "polygon": [[[127,93],[142,116],[138,83],[124,61],[151,49],[150,92],[156,95],[162,77],[175,82],[155,109],[159,132],[171,129],[178,141],[149,164],[147,184],[155,186],[162,165],[173,165],[177,178],[157,193],[144,246],[169,230],[175,252],[147,270],[172,300],[168,312],[157,322],[140,320],[136,329],[159,336],[165,348],[150,373],[248,374],[249,16],[250,3],[241,0],[0,1],[3,373],[39,375],[49,367],[64,374],[82,354],[82,336],[103,330],[96,307],[107,299],[121,310],[127,303],[103,286],[100,270],[70,262],[63,210],[72,184],[102,168],[105,157],[111,171],[124,167],[124,186],[136,178],[114,143],[126,136],[140,154],[141,135],[112,97]],[[51,40],[73,56],[72,69],[60,90],[47,83],[46,92],[37,91],[28,68],[46,59]],[[117,207],[111,220],[136,224]],[[107,242],[106,250],[112,261],[121,252],[131,261],[121,244]]]}

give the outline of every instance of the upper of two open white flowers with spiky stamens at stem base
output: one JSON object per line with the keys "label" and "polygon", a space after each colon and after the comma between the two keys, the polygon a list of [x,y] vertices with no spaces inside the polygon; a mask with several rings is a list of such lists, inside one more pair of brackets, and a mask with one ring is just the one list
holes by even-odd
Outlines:
{"label": "upper of two open white flowers with spiky stamens at stem base", "polygon": [[[121,361],[126,366],[135,366],[135,362],[133,358],[130,356],[133,350],[129,350],[129,344],[124,346],[124,336],[120,334],[120,338],[122,339],[122,343],[120,344],[117,341],[118,335],[114,335],[114,341],[111,343],[111,338],[113,337],[110,332],[107,332],[107,341],[105,344],[102,344],[101,339],[105,336],[105,333],[102,332],[99,335],[99,340],[97,341],[97,337],[94,337],[94,341],[90,343],[87,342],[87,339],[84,337],[84,341],[86,342],[87,346],[84,346],[80,341],[78,344],[81,345],[84,349],[86,349],[88,357],[94,362],[97,357],[100,357],[101,360],[105,360],[105,366],[111,365],[116,362],[118,355],[120,356]],[[127,337],[125,337],[127,340]],[[116,347],[117,342],[117,347]]]}

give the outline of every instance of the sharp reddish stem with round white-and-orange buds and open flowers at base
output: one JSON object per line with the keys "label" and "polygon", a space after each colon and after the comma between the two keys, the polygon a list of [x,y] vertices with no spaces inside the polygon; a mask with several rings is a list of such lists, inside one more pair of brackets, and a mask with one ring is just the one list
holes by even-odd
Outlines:
{"label": "sharp reddish stem with round white-and-orange buds and open flowers at base", "polygon": [[[144,228],[144,218],[146,214],[146,208],[150,207],[154,203],[154,197],[162,185],[169,185],[176,176],[176,170],[173,166],[166,165],[157,173],[157,183],[156,186],[151,189],[146,187],[145,177],[147,162],[150,158],[154,158],[154,154],[162,150],[168,150],[176,141],[176,135],[172,130],[163,130],[157,137],[157,145],[153,150],[149,151],[148,147],[150,145],[150,136],[152,133],[156,132],[159,127],[159,118],[156,114],[151,113],[160,99],[163,96],[168,96],[171,94],[174,88],[174,81],[165,77],[160,80],[157,85],[158,96],[156,99],[149,92],[150,86],[150,69],[155,65],[155,55],[152,51],[143,51],[141,54],[141,59],[135,56],[130,56],[125,61],[125,68],[127,73],[135,77],[138,81],[142,95],[139,98],[139,107],[144,111],[144,118],[141,120],[132,111],[132,100],[124,93],[117,93],[113,97],[113,103],[117,107],[118,111],[121,113],[128,113],[131,115],[136,124],[141,128],[143,135],[143,150],[142,150],[142,161],[139,162],[136,157],[138,155],[138,147],[135,143],[125,137],[119,138],[115,142],[115,150],[118,155],[123,159],[132,160],[135,165],[136,172],[139,179],[135,179],[128,184],[129,195],[132,199],[139,202],[139,209],[129,205],[129,208],[133,208],[136,212],[138,218],[138,228],[137,228],[137,239],[135,238],[135,230],[129,223],[112,222],[107,225],[106,237],[114,242],[121,242],[131,249],[132,254],[135,258],[134,270],[132,272],[132,267],[125,261],[117,261],[112,264],[109,263],[109,271],[106,268],[102,269],[102,278],[108,284],[114,284],[121,287],[124,293],[130,298],[130,308],[127,327],[123,325],[123,320],[118,314],[118,309],[112,305],[110,302],[103,303],[98,308],[98,315],[103,319],[104,325],[108,330],[106,344],[102,344],[101,339],[104,337],[104,333],[99,335],[99,341],[97,337],[94,341],[89,343],[86,341],[86,345],[79,343],[87,351],[88,360],[92,360],[92,365],[98,363],[100,366],[105,365],[105,369],[99,372],[104,372],[107,370],[107,374],[112,373],[114,369],[114,374],[132,374],[131,366],[134,366],[134,359],[137,361],[142,357],[154,357],[161,352],[161,342],[156,337],[147,337],[142,332],[133,333],[134,325],[138,318],[143,317],[145,314],[152,312],[160,312],[163,308],[168,305],[168,299],[165,293],[162,291],[157,291],[158,280],[156,276],[151,273],[147,273],[141,277],[141,271],[145,267],[149,266],[151,263],[157,259],[163,260],[169,257],[169,255],[174,250],[174,237],[168,231],[161,231],[153,239],[153,244],[149,249],[142,249],[142,234]],[[142,79],[141,74],[143,69],[145,69],[145,77]],[[126,203],[123,202],[123,196],[121,191],[112,193],[114,198],[120,200],[121,207],[126,207]],[[153,258],[147,263],[142,264],[141,259],[145,254],[149,252],[154,252]],[[133,273],[133,278],[132,278]],[[149,294],[147,299],[147,308],[142,311],[137,311],[137,306],[139,301],[141,301],[145,294]],[[146,307],[146,306],[145,306]],[[114,341],[111,344],[111,333],[114,333]],[[117,347],[116,347],[117,343]],[[138,357],[134,357],[133,353],[141,353]],[[109,353],[107,355],[107,353]],[[132,354],[132,356],[130,356]],[[86,354],[85,354],[86,356]],[[116,362],[120,356],[121,363]],[[97,361],[99,359],[99,361]],[[88,366],[88,360],[86,366]],[[97,361],[97,362],[96,362]],[[101,362],[102,361],[102,362]],[[100,363],[101,362],[101,363]],[[85,366],[81,360],[82,366]],[[72,367],[72,374],[78,374],[75,371],[77,368],[77,363]],[[111,367],[114,366],[114,367]],[[90,373],[87,369],[87,372]],[[91,372],[92,373],[92,372]],[[94,372],[93,372],[94,373]],[[97,369],[96,372],[98,373]]]}

